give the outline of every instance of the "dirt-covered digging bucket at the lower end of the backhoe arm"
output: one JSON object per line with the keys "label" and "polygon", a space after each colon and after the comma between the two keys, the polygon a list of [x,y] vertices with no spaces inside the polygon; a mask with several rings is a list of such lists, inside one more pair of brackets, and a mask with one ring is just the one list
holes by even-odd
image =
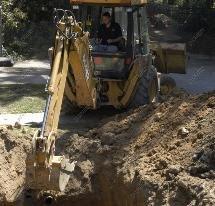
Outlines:
{"label": "dirt-covered digging bucket at the lower end of the backhoe arm", "polygon": [[[64,156],[49,156],[47,151],[41,151],[44,139],[37,135],[38,132],[33,138],[32,153],[26,161],[26,186],[33,190],[64,191],[76,162],[70,163]],[[49,143],[53,150],[54,142],[47,141],[45,144],[48,146]]]}

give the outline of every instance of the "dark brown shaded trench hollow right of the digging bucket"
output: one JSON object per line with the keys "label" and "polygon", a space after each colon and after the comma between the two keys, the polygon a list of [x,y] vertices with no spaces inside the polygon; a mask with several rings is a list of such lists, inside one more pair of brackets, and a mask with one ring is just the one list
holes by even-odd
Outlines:
{"label": "dark brown shaded trench hollow right of the digging bucket", "polygon": [[[110,169],[110,168],[109,168]],[[53,205],[65,206],[145,206],[148,189],[135,180],[125,184],[123,178],[117,177],[113,170],[104,169],[98,176],[92,177],[93,193],[76,197],[61,197]],[[142,188],[143,187],[143,188]]]}

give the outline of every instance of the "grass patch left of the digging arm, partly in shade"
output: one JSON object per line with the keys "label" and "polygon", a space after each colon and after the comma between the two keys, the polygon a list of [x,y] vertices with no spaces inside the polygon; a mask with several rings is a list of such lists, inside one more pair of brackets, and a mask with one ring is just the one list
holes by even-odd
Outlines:
{"label": "grass patch left of the digging arm, partly in shade", "polygon": [[44,85],[0,85],[0,114],[43,112],[46,97]]}

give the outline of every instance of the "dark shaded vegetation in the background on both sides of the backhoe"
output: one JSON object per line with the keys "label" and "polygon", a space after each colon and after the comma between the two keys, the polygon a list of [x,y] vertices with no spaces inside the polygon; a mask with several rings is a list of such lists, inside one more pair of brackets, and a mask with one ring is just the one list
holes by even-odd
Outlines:
{"label": "dark shaded vegetation in the background on both sides of the backhoe", "polygon": [[[151,2],[173,6],[173,16],[184,24],[184,30],[195,33],[204,28],[214,34],[214,0]],[[52,45],[54,34],[53,9],[69,8],[69,0],[2,0],[2,6],[4,47],[7,52],[14,57],[47,58],[47,48]]]}

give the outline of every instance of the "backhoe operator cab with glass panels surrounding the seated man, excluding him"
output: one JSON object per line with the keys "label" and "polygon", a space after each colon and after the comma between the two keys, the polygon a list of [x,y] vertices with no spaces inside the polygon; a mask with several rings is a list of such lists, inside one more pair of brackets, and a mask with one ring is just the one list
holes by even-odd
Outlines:
{"label": "backhoe operator cab with glass panels surrounding the seated man, excluding him", "polygon": [[[111,19],[120,25],[123,41],[117,52],[94,51],[95,40],[102,15],[111,14]],[[148,28],[145,6],[79,6],[78,20],[84,22],[84,30],[90,32],[94,75],[103,79],[124,80],[138,56],[148,54]]]}

